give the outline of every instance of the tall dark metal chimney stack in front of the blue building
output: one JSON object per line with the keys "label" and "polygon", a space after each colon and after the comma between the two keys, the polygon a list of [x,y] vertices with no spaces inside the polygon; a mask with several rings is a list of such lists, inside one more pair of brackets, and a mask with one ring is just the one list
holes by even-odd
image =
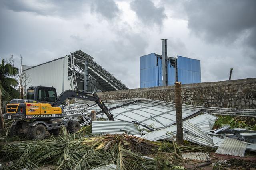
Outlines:
{"label": "tall dark metal chimney stack in front of the blue building", "polygon": [[162,40],[162,75],[163,75],[163,86],[167,86],[167,39]]}

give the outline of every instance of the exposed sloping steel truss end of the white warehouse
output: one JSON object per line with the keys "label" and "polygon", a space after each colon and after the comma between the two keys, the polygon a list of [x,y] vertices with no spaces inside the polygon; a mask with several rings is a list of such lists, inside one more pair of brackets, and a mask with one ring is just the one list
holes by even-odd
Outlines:
{"label": "exposed sloping steel truss end of the white warehouse", "polygon": [[[97,78],[95,78],[93,75],[88,74],[89,92],[97,90],[112,91],[128,89],[122,82],[112,76],[112,74],[102,68],[102,66],[93,61],[93,58],[90,55],[84,53],[81,50],[71,53],[68,56],[68,75],[73,76],[73,79],[77,78],[80,79],[80,82],[83,82],[85,74],[84,62],[86,61],[88,61],[88,66],[89,70],[91,70],[91,74],[97,75]],[[93,88],[92,86],[94,86],[95,88]]]}

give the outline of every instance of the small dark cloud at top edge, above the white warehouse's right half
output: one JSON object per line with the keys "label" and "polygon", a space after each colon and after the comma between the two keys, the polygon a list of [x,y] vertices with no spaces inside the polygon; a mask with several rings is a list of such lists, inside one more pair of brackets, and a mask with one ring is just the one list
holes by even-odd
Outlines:
{"label": "small dark cloud at top edge, above the white warehouse's right half", "polygon": [[120,13],[120,10],[113,0],[94,0],[91,12],[97,12],[107,19],[113,19]]}

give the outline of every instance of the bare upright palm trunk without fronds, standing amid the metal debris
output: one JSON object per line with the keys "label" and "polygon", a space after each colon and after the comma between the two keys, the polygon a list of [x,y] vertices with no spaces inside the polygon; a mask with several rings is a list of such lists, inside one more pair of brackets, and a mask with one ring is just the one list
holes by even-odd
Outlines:
{"label": "bare upright palm trunk without fronds, standing amid the metal debris", "polygon": [[183,122],[182,122],[182,99],[181,99],[181,83],[175,82],[175,109],[176,109],[176,122],[177,122],[177,135],[176,142],[180,145],[183,144]]}

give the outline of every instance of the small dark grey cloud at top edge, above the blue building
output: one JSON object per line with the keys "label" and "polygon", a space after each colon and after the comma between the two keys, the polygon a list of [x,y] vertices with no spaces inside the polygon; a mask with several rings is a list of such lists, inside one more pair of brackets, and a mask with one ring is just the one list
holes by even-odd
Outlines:
{"label": "small dark grey cloud at top edge, above the blue building", "polygon": [[166,18],[164,7],[157,8],[150,0],[135,0],[130,3],[130,8],[136,12],[138,18],[146,25],[162,25],[164,18]]}

